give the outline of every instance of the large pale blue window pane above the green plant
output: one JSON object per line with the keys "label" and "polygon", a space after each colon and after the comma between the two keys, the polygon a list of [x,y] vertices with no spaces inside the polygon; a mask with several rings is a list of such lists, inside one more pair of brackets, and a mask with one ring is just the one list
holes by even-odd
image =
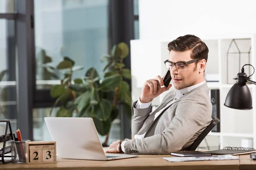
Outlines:
{"label": "large pale blue window pane above the green plant", "polygon": [[95,67],[102,76],[105,63],[100,58],[108,53],[108,0],[44,0],[35,5],[35,51],[37,89],[49,89],[59,83],[63,74],[49,73],[42,65],[50,57],[56,67],[63,57],[70,57],[83,70],[73,79],[83,77]]}

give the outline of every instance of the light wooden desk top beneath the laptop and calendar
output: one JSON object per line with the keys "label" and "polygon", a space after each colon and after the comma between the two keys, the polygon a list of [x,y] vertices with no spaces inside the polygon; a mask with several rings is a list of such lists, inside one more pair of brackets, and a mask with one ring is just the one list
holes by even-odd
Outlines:
{"label": "light wooden desk top beneath the laptop and calendar", "polygon": [[112,161],[58,159],[56,164],[2,164],[0,170],[239,170],[240,164],[239,160],[168,162],[163,157],[171,156],[140,155]]}

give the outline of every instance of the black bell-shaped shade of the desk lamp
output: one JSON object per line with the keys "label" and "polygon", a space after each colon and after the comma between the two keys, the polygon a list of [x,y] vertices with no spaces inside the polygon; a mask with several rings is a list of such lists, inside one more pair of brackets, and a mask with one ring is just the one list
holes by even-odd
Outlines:
{"label": "black bell-shaped shade of the desk lamp", "polygon": [[250,110],[253,108],[252,96],[248,86],[234,84],[227,94],[225,106],[233,109]]}

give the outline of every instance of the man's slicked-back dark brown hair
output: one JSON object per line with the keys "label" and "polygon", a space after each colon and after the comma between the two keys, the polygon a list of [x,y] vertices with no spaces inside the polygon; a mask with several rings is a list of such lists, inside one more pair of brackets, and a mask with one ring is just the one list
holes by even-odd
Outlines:
{"label": "man's slicked-back dark brown hair", "polygon": [[[207,45],[195,35],[184,35],[176,40],[169,42],[169,51],[187,51],[191,50],[192,59],[205,59],[207,62],[209,49]],[[196,62],[196,64],[198,61]]]}

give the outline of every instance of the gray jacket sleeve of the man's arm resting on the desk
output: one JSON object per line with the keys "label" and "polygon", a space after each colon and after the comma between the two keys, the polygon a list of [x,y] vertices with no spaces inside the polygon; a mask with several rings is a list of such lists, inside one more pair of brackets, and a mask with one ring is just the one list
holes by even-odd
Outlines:
{"label": "gray jacket sleeve of the man's arm resting on the desk", "polygon": [[[186,99],[177,106],[175,116],[169,127],[162,133],[143,139],[125,142],[125,153],[170,154],[181,148],[199,130],[209,125],[211,106],[209,102]],[[135,121],[134,121],[135,122]],[[134,129],[135,130],[135,129]]]}

